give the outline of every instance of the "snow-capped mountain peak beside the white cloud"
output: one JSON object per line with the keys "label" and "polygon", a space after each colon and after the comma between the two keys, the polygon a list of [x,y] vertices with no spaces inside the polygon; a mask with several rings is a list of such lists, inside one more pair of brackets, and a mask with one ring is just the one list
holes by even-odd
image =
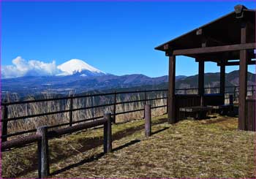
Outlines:
{"label": "snow-capped mountain peak beside the white cloud", "polygon": [[64,64],[57,66],[57,68],[61,71],[58,76],[80,75],[81,77],[91,77],[106,75],[105,72],[102,72],[99,69],[94,68],[94,66],[86,64],[85,61],[79,59],[69,60]]}

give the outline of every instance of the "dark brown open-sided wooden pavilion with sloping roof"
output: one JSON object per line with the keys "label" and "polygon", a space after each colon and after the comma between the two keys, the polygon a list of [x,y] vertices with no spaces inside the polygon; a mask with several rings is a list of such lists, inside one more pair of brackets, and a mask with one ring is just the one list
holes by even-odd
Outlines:
{"label": "dark brown open-sided wooden pavilion with sloping roof", "polygon": [[[224,104],[225,66],[239,65],[238,129],[255,131],[255,98],[246,96],[247,65],[255,64],[255,12],[237,5],[233,12],[155,47],[169,56],[169,123],[179,120],[179,107]],[[189,56],[198,62],[197,95],[175,94],[176,56]],[[220,66],[218,95],[204,94],[205,61]]]}

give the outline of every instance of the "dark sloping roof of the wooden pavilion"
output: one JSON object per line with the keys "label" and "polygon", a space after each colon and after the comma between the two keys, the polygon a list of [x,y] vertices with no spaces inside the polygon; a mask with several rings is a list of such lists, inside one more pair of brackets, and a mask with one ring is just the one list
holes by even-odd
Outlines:
{"label": "dark sloping roof of the wooden pavilion", "polygon": [[[238,7],[238,9],[236,9]],[[241,43],[241,20],[248,25],[248,37],[246,43],[255,42],[255,9],[247,9],[242,5],[235,7],[233,12],[211,21],[206,25],[195,28],[186,34],[165,42],[156,50],[181,50],[202,47],[202,42],[206,42],[206,47],[236,45]],[[240,10],[240,12],[239,12]],[[249,58],[255,58],[253,50],[249,51]],[[239,59],[239,51],[221,53],[203,53],[186,55],[192,58],[204,58],[208,61],[236,60]]]}

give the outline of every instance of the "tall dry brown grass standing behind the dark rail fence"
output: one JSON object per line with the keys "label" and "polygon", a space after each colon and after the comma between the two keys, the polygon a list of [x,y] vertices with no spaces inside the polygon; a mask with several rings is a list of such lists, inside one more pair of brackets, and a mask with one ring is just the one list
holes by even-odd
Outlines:
{"label": "tall dry brown grass standing behind the dark rail fence", "polygon": [[[71,94],[70,94],[71,95]],[[150,95],[148,93],[148,95]],[[165,96],[163,93],[154,94],[154,98],[160,98]],[[44,99],[53,98],[53,94],[44,94]],[[17,99],[9,99],[9,101],[18,100],[18,96],[14,97]],[[34,99],[30,97],[29,99]],[[117,102],[124,101],[134,101],[143,99],[142,94],[126,94],[126,95],[117,95]],[[148,101],[148,104],[154,106],[162,106],[166,104],[166,99],[159,99],[155,101]],[[73,109],[80,107],[91,107],[99,104],[110,104],[113,103],[113,95],[108,97],[103,96],[93,96],[81,99],[74,99]],[[8,118],[14,118],[24,115],[34,115],[41,113],[49,113],[59,110],[69,110],[70,100],[56,100],[49,102],[35,102],[28,104],[15,104],[8,107]],[[116,113],[129,111],[129,110],[138,110],[143,109],[143,102],[128,103],[128,104],[118,104],[116,105]],[[97,116],[102,116],[105,111],[110,111],[113,113],[113,106],[107,107],[97,107],[89,110],[78,110],[73,112],[73,121],[80,121],[87,118],[94,118]],[[154,116],[162,115],[166,112],[166,107],[157,108],[154,110]],[[117,115],[116,122],[123,123],[132,119],[141,119],[143,118],[143,111],[137,113],[127,113],[124,115]],[[29,129],[36,129],[39,126],[53,126],[61,123],[69,123],[69,113],[60,113],[55,115],[44,115],[36,118],[25,118],[17,121],[8,122],[8,134],[14,132],[20,132]],[[78,123],[79,124],[79,123]],[[65,126],[63,126],[65,127]],[[30,133],[31,134],[31,133]],[[24,134],[26,135],[26,134]],[[10,137],[9,140],[16,137]]]}

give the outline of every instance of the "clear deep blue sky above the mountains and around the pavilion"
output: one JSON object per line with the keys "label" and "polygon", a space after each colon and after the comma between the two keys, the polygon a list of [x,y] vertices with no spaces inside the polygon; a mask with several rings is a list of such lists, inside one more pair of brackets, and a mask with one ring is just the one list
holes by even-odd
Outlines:
{"label": "clear deep blue sky above the mountains and around the pavilion", "polygon": [[[56,65],[78,58],[115,75],[167,75],[168,58],[154,47],[233,11],[226,2],[2,2],[1,65],[17,56]],[[238,66],[227,67],[227,72]],[[249,66],[255,72],[255,66]],[[206,63],[206,72],[219,72]],[[192,58],[179,56],[176,75],[197,74]]]}

